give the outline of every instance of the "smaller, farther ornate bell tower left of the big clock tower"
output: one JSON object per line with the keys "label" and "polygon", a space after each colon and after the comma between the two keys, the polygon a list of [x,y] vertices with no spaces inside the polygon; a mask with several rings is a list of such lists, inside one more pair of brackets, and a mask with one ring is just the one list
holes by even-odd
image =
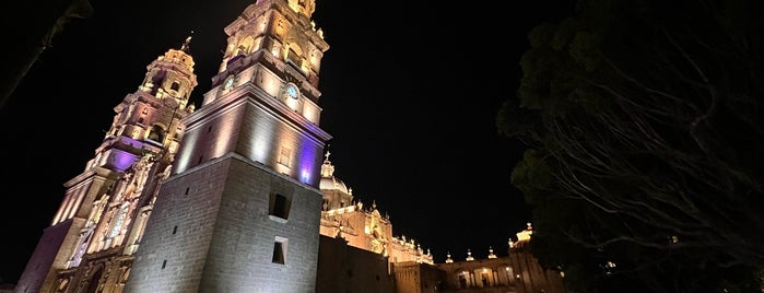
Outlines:
{"label": "smaller, farther ornate bell tower left of the big clock tower", "polygon": [[180,143],[197,85],[190,37],[146,67],[95,155],[66,195],[16,292],[115,292],[124,284],[161,180]]}

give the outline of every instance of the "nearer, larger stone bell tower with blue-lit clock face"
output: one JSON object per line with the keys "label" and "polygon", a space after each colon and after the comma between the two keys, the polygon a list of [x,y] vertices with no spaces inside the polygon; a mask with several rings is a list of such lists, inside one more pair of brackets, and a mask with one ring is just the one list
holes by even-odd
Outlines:
{"label": "nearer, larger stone bell tower with blue-lit clock face", "polygon": [[324,148],[314,0],[257,0],[149,219],[125,292],[313,292]]}

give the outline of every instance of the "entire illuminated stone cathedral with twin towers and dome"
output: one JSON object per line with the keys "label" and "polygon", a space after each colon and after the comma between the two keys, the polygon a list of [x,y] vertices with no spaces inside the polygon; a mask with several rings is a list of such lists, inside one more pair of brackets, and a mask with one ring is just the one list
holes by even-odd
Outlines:
{"label": "entire illuminated stone cathedral with twin towers and dome", "polygon": [[191,37],[146,66],[64,183],[13,292],[564,292],[528,251],[435,263],[334,176],[315,0],[257,0],[197,108]]}

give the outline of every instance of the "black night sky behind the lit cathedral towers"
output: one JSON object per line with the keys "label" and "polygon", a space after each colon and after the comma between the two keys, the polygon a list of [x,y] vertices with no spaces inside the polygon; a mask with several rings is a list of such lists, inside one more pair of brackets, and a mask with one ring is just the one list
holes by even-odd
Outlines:
{"label": "black night sky behind the lit cathedral towers", "polygon": [[[70,21],[0,108],[7,282],[20,277],[63,183],[93,157],[145,67],[192,31],[192,101],[201,105],[223,27],[252,0],[94,2],[95,14]],[[317,0],[314,20],[330,46],[320,127],[333,137],[334,175],[436,262],[448,251],[463,260],[467,249],[506,255],[530,212],[509,183],[521,144],[498,136],[494,118],[518,86],[528,31],[572,14],[574,1],[416,2]]]}

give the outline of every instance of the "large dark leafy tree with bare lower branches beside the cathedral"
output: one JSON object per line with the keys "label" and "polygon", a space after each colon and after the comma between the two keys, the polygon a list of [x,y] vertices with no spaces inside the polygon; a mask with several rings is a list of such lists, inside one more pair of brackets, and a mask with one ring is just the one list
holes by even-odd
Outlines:
{"label": "large dark leafy tree with bare lower branches beside the cathedral", "polygon": [[762,292],[762,11],[579,0],[529,33],[496,125],[528,146],[512,180],[571,289]]}

